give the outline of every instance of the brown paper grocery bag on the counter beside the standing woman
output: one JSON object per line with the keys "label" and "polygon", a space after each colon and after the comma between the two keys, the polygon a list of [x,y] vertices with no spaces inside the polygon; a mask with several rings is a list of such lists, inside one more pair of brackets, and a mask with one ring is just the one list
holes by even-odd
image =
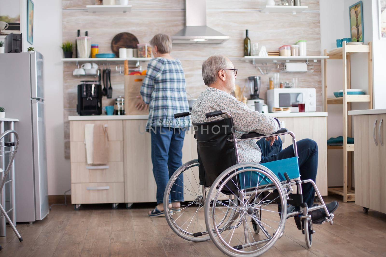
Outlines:
{"label": "brown paper grocery bag on the counter beside the standing woman", "polygon": [[141,101],[137,96],[141,96],[140,90],[145,75],[125,75],[125,111],[126,115],[149,114],[147,110],[139,111],[135,108],[137,102]]}

